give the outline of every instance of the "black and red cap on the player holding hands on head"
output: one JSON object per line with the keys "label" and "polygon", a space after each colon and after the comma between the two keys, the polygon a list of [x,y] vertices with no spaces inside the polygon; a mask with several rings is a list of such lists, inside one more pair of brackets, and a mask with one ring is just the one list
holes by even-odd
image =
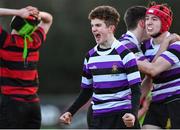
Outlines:
{"label": "black and red cap on the player holding hands on head", "polygon": [[[40,20],[38,20],[37,18],[35,18],[35,19],[23,19],[19,16],[14,16],[11,23],[10,23],[10,26],[11,26],[11,29],[15,29],[16,31],[20,31],[27,23],[32,25],[33,27],[36,27],[40,23]],[[29,32],[27,32],[27,33],[29,33]]]}

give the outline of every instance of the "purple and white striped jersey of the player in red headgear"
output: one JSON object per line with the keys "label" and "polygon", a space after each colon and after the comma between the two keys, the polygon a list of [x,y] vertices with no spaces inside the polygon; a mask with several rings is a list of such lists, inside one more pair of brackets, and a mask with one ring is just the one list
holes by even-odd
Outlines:
{"label": "purple and white striped jersey of the player in red headgear", "polygon": [[[143,52],[147,59],[152,61],[160,45],[154,45],[152,39],[143,45]],[[168,97],[180,94],[180,42],[170,44],[167,51],[161,55],[171,63],[171,68],[153,78],[154,88],[152,91],[152,101],[164,101]]]}

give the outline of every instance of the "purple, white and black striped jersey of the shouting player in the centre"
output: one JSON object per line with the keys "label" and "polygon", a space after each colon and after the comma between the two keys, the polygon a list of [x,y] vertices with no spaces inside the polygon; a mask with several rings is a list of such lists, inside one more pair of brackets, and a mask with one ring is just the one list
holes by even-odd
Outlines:
{"label": "purple, white and black striped jersey of the shouting player in the centre", "polygon": [[82,88],[93,88],[93,115],[131,109],[131,87],[140,85],[141,78],[135,55],[118,40],[111,49],[91,49],[85,60]]}

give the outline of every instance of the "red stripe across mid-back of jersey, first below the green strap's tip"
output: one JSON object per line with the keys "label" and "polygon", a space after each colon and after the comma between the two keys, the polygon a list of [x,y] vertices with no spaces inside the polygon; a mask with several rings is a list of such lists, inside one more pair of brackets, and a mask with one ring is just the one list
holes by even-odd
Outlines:
{"label": "red stripe across mid-back of jersey, first below the green strap's tip", "polygon": [[21,80],[34,80],[38,78],[37,70],[10,70],[1,68],[0,77],[7,77]]}

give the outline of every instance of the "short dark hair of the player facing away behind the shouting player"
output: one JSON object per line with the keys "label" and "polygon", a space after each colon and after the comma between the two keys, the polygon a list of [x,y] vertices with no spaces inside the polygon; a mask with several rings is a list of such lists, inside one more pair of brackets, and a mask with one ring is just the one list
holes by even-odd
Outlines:
{"label": "short dark hair of the player facing away behind the shouting player", "polygon": [[127,30],[135,29],[138,21],[145,19],[146,10],[145,6],[132,6],[126,10],[124,14],[124,22]]}

